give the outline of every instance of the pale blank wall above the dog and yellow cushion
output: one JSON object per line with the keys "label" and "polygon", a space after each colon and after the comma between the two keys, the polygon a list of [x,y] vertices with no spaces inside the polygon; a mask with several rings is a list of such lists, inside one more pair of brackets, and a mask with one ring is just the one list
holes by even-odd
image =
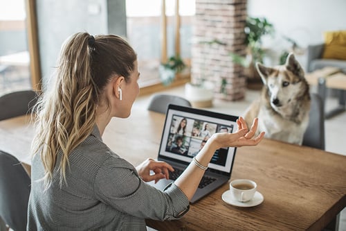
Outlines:
{"label": "pale blank wall above the dog and yellow cushion", "polygon": [[[271,49],[277,64],[278,53],[289,48],[282,35],[291,37],[300,46],[323,42],[323,32],[346,30],[345,0],[248,0],[248,15],[266,17],[275,27],[275,37],[266,37],[264,46]],[[305,55],[298,57],[305,67]]]}

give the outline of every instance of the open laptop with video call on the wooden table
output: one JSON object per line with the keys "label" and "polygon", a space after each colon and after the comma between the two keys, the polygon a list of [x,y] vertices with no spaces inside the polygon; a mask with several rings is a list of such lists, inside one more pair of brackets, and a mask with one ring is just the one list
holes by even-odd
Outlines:
{"label": "open laptop with video call on the wooden table", "polygon": [[[157,160],[171,164],[175,171],[170,172],[170,180],[162,179],[156,184],[151,181],[148,184],[160,190],[165,189],[190,164],[212,134],[235,132],[237,118],[208,110],[168,105]],[[190,203],[197,202],[228,182],[236,150],[237,148],[226,147],[215,151]]]}

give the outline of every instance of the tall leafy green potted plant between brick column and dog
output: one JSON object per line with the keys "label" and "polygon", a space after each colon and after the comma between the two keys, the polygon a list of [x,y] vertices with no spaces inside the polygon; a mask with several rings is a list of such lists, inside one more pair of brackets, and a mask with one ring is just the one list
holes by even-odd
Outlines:
{"label": "tall leafy green potted plant between brick column and dog", "polygon": [[262,48],[262,37],[264,35],[273,35],[275,32],[274,27],[264,17],[248,17],[244,32],[246,35],[244,43],[247,46],[246,56],[237,53],[229,53],[229,55],[233,62],[246,68],[244,74],[247,77],[248,85],[260,83],[260,87],[262,87],[261,78],[255,69],[255,63],[263,63],[265,53]]}

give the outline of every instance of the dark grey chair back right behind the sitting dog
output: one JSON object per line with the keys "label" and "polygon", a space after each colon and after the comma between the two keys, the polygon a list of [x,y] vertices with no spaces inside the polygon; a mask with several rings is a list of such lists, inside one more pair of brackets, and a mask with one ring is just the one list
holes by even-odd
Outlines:
{"label": "dark grey chair back right behind the sitting dog", "polygon": [[309,125],[302,145],[325,150],[325,108],[319,94],[311,94]]}

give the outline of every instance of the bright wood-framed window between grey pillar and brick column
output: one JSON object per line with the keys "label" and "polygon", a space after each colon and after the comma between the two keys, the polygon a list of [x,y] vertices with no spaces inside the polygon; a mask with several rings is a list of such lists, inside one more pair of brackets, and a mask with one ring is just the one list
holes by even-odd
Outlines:
{"label": "bright wood-framed window between grey pillar and brick column", "polygon": [[[138,83],[141,88],[161,83],[158,67],[172,55],[179,53],[190,66],[194,2],[126,1],[127,39],[138,54]],[[179,6],[179,11],[176,11],[176,6]],[[188,77],[189,73],[177,76],[177,79]]]}

